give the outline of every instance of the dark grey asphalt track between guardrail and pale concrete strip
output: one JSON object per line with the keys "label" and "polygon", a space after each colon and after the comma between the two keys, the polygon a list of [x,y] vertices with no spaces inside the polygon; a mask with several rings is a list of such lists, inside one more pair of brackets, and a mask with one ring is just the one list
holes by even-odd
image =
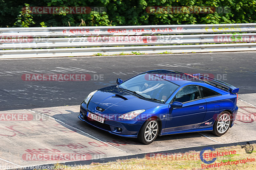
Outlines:
{"label": "dark grey asphalt track between guardrail and pale concrete strip", "polygon": [[[64,57],[0,62],[0,110],[77,105],[92,91],[138,73],[168,69],[209,74],[255,93],[255,52]],[[90,74],[89,81],[23,81],[22,74]]]}

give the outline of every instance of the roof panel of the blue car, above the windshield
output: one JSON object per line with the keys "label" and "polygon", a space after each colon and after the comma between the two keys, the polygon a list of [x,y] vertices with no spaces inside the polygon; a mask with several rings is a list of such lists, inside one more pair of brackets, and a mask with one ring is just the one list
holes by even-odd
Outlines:
{"label": "roof panel of the blue car, above the windshield", "polygon": [[189,82],[205,83],[204,81],[196,78],[195,76],[192,76],[192,75],[186,74],[186,73],[181,73],[179,71],[151,70],[151,71],[147,71],[145,73],[156,75],[156,76],[161,77],[167,81],[171,81],[179,86],[189,83]]}

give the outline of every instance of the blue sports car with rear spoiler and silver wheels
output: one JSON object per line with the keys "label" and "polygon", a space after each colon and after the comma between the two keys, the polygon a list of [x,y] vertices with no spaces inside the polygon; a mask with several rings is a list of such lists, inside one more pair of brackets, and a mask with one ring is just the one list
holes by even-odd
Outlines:
{"label": "blue sports car with rear spoiler and silver wheels", "polygon": [[152,70],[116,83],[90,93],[78,118],[143,144],[195,131],[221,136],[236,119],[239,88],[202,74]]}

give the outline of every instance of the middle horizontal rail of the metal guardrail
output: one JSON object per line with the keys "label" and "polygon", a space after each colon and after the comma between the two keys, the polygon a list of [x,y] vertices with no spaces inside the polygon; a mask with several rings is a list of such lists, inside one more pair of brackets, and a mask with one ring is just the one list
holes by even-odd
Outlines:
{"label": "middle horizontal rail of the metal guardrail", "polygon": [[[106,37],[71,37],[71,38],[29,38],[21,43],[5,42],[0,49],[24,48],[63,48],[91,46],[145,46],[170,44],[205,44],[232,43],[241,40],[239,37],[255,37],[256,33],[241,34],[194,34],[194,35],[150,35],[150,36],[106,36]],[[226,40],[225,40],[225,37]],[[228,39],[234,37],[232,39]],[[236,38],[235,38],[236,37]],[[238,38],[237,38],[238,37]]]}

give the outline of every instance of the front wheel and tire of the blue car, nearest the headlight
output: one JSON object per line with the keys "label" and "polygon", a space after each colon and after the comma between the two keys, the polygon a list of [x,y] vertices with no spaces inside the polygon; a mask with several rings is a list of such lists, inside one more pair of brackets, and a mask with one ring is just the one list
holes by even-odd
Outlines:
{"label": "front wheel and tire of the blue car, nearest the headlight", "polygon": [[140,128],[138,140],[143,144],[151,144],[157,137],[159,123],[155,118],[149,118]]}

